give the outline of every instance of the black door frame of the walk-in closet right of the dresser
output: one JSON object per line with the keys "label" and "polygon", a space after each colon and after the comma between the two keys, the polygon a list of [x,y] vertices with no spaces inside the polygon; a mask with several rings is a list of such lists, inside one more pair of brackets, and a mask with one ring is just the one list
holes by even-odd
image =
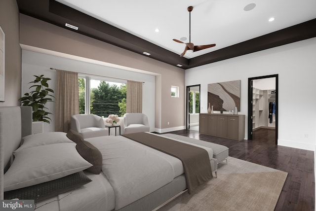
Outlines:
{"label": "black door frame of the walk-in closet right of the dresser", "polygon": [[248,78],[248,140],[252,140],[252,80],[263,78],[276,78],[276,145],[278,123],[278,74]]}

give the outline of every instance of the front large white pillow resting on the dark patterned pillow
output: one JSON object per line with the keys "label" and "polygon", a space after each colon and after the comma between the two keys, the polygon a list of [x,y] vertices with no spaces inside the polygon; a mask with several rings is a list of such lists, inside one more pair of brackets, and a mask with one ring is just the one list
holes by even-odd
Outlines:
{"label": "front large white pillow resting on the dark patterned pillow", "polygon": [[76,143],[35,146],[14,153],[4,174],[4,191],[28,187],[68,176],[92,166],[76,149]]}

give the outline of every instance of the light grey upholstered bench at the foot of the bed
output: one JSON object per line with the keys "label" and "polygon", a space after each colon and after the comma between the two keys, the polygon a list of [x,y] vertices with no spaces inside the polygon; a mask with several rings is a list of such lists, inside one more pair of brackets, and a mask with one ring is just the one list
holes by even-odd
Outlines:
{"label": "light grey upholstered bench at the foot of the bed", "polygon": [[180,136],[176,134],[161,134],[162,136],[166,136],[172,139],[178,139],[181,141],[187,141],[190,143],[194,143],[197,145],[209,147],[213,150],[213,158],[217,159],[218,163],[221,163],[222,161],[226,160],[227,163],[227,158],[228,158],[228,150],[229,148],[227,146],[217,144],[217,143],[211,143],[207,141],[200,141],[197,139],[185,137],[185,136]]}

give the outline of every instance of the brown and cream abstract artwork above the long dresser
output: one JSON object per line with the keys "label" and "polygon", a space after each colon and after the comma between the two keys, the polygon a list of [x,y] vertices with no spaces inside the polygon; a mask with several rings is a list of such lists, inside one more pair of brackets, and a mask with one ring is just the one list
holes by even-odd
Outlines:
{"label": "brown and cream abstract artwork above the long dresser", "polygon": [[237,107],[240,111],[240,80],[207,85],[207,106],[213,110],[228,111]]}

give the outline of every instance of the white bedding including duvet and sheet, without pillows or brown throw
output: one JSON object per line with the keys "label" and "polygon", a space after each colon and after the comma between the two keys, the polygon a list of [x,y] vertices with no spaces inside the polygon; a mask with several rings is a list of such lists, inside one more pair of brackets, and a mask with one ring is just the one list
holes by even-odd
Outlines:
{"label": "white bedding including duvet and sheet, without pillows or brown throw", "polygon": [[[101,174],[85,172],[92,182],[71,191],[71,194],[67,192],[58,198],[40,202],[37,207],[60,199],[37,211],[118,210],[184,174],[182,162],[178,158],[125,137],[106,136],[85,140],[91,142],[102,154]],[[213,157],[211,148],[202,148],[210,158]]]}

